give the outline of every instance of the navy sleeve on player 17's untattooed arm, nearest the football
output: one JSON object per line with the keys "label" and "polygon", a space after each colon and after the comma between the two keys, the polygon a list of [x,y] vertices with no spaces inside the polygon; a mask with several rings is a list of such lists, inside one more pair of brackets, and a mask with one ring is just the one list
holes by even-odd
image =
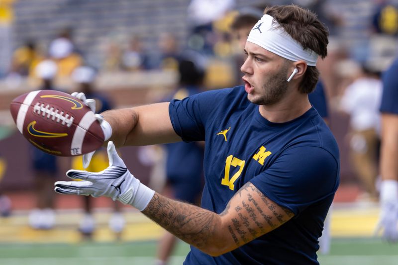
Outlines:
{"label": "navy sleeve on player 17's untattooed arm, nearest the football", "polygon": [[170,120],[185,142],[204,141],[205,128],[214,117],[212,112],[230,88],[205,91],[170,102]]}

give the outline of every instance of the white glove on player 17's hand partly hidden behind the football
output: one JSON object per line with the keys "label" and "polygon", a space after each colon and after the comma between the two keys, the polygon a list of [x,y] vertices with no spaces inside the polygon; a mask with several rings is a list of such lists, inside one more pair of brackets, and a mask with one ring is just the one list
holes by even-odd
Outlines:
{"label": "white glove on player 17's hand partly hidden behind the football", "polygon": [[[86,95],[83,92],[73,92],[71,94],[72,96],[80,99],[85,103],[87,106],[90,107],[91,111],[96,113],[96,100],[91,99],[91,98],[86,98]],[[104,141],[107,141],[110,136],[112,135],[112,127],[110,127],[109,123],[103,119],[103,116],[101,114],[95,114],[97,120],[100,122],[103,136],[104,136]],[[90,161],[93,158],[93,155],[96,151],[90,152],[88,154],[83,155],[83,168],[87,169],[90,165]]]}

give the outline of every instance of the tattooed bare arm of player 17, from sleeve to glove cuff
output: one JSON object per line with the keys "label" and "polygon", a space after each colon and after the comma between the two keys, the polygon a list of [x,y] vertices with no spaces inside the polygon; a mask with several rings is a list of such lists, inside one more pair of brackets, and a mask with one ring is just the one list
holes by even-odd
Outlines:
{"label": "tattooed bare arm of player 17, from sleeve to glove cuff", "polygon": [[142,211],[151,220],[211,256],[230,252],[289,221],[293,212],[247,182],[216,214],[155,193]]}

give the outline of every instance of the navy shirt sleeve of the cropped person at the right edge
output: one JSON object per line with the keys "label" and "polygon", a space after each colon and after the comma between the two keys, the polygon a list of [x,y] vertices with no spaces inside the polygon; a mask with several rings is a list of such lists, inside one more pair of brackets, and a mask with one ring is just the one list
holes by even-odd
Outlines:
{"label": "navy shirt sleeve of the cropped person at the right edge", "polygon": [[398,114],[398,59],[383,74],[381,112]]}

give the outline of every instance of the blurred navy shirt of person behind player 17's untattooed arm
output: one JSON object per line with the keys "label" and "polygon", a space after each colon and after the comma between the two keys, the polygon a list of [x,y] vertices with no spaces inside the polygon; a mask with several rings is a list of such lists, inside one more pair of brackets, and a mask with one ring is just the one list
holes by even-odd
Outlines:
{"label": "blurred navy shirt of person behind player 17's untattooed arm", "polygon": [[[200,92],[188,86],[173,93],[172,98],[182,99]],[[170,101],[170,98],[169,100]],[[202,189],[204,148],[198,143],[166,144],[166,177],[174,188],[175,198],[194,203]]]}

